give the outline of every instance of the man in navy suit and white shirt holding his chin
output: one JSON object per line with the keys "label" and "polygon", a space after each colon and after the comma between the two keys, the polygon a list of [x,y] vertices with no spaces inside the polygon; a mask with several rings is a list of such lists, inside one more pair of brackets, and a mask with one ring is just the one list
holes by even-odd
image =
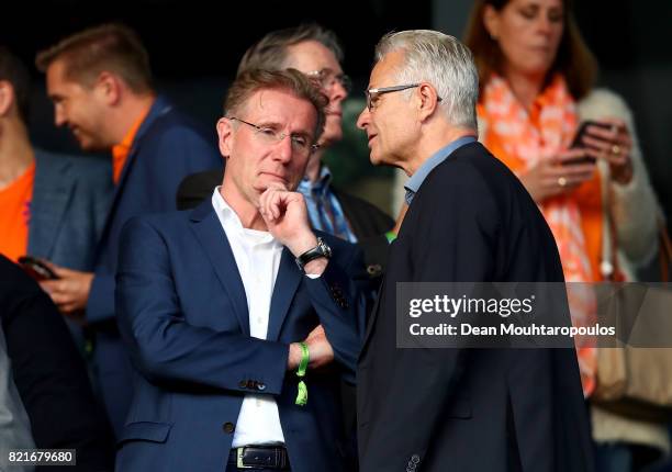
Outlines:
{"label": "man in navy suit and white shirt holding his chin", "polygon": [[222,186],[124,227],[116,304],[137,375],[119,471],[345,470],[339,383],[368,276],[295,192],[325,102],[294,69],[240,75],[217,123]]}

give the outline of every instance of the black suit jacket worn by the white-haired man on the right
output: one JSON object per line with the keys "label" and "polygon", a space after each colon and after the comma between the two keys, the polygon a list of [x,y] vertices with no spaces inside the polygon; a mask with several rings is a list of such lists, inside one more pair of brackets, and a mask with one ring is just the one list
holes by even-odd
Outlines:
{"label": "black suit jacket worn by the white-haired man on the right", "polygon": [[367,328],[361,471],[592,470],[573,349],[395,348],[396,282],[562,280],[550,229],[503,164],[473,143],[438,165],[391,245]]}

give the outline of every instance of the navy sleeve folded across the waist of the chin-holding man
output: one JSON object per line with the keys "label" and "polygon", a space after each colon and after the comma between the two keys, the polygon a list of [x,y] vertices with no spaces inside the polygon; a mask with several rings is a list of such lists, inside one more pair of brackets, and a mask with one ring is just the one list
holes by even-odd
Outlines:
{"label": "navy sleeve folded across the waist of the chin-holding man", "polygon": [[121,237],[116,276],[120,330],[135,368],[166,387],[199,385],[249,393],[240,379],[256,379],[256,393],[280,394],[289,347],[217,331],[187,322],[180,307],[164,235],[142,217]]}

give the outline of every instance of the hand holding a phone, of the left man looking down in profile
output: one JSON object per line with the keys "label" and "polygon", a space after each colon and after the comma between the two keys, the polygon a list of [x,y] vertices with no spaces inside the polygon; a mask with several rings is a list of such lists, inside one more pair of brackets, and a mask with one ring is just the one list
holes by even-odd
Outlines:
{"label": "hand holding a phone, of the left man looking down in profile", "polygon": [[82,323],[93,273],[66,269],[48,261],[44,262],[58,276],[58,279],[42,281],[40,285],[48,293],[60,313]]}

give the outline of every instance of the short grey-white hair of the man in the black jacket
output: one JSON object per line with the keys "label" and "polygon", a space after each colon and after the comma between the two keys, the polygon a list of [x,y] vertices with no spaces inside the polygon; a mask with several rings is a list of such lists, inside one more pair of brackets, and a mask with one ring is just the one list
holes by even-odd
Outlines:
{"label": "short grey-white hair of the man in the black jacket", "polygon": [[376,61],[395,50],[404,53],[396,71],[401,85],[430,83],[441,98],[439,105],[449,123],[477,130],[479,72],[467,46],[438,31],[393,32],[376,46]]}

